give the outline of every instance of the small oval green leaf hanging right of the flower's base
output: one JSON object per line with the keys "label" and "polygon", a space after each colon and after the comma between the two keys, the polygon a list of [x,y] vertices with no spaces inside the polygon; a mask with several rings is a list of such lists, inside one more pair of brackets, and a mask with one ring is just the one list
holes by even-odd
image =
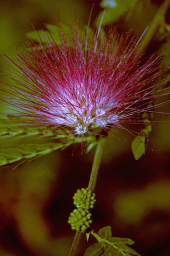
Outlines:
{"label": "small oval green leaf hanging right of the flower's base", "polygon": [[145,137],[138,135],[131,143],[131,150],[135,160],[138,160],[145,152]]}

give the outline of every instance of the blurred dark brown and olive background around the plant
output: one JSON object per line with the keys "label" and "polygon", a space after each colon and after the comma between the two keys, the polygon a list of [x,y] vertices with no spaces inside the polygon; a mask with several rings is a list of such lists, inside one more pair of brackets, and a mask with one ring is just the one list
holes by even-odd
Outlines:
{"label": "blurred dark brown and olive background around the plant", "polygon": [[[121,6],[125,2],[131,3],[123,0]],[[119,31],[131,28],[140,36],[163,2],[136,0],[126,9],[112,10],[106,15],[106,28],[114,25],[121,15]],[[0,0],[0,52],[10,57],[13,46],[20,49],[25,44],[20,27],[25,33],[31,31],[29,19],[37,29],[44,28],[44,23],[57,24],[57,9],[62,23],[72,23],[76,10],[79,23],[87,24],[92,3],[95,5],[91,27],[98,22],[104,7],[114,9],[116,6],[116,1],[111,0]],[[149,41],[146,54],[161,53],[169,48],[169,17],[168,9]],[[163,58],[162,65],[167,67],[169,52]],[[2,77],[6,65],[7,61],[0,57]],[[169,112],[169,106],[164,105],[160,111]],[[2,107],[1,112],[4,112]],[[113,236],[134,240],[132,247],[142,256],[170,255],[168,121],[170,118],[166,115],[163,122],[152,125],[148,145],[153,151],[147,149],[138,161],[131,153],[131,139],[107,138],[97,180],[92,228],[97,232],[110,225]],[[140,131],[135,125],[132,129]],[[23,144],[32,139],[1,139],[0,145]],[[95,150],[81,155],[77,145],[71,156],[72,149],[70,146],[55,151],[14,170],[16,163],[0,167],[0,256],[68,255],[74,237],[67,223],[74,208],[72,195],[78,188],[87,186]],[[82,256],[85,248],[94,242],[90,237],[86,243],[84,236],[77,256]]]}

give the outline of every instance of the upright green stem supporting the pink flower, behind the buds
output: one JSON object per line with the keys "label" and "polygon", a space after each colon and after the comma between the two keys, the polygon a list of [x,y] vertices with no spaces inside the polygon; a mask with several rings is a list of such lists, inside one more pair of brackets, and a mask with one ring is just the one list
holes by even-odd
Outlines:
{"label": "upright green stem supporting the pink flower, behind the buds", "polygon": [[[102,149],[103,149],[103,145],[104,145],[104,138],[100,137],[98,139],[98,144],[95,150],[95,154],[94,154],[94,159],[93,159],[93,163],[92,163],[92,169],[91,169],[91,174],[90,174],[90,178],[89,178],[89,182],[88,182],[88,189],[94,191],[95,188],[95,184],[96,184],[96,180],[97,180],[97,174],[98,174],[98,169],[99,169],[99,165],[101,162],[101,155],[102,155]],[[75,256],[80,238],[81,238],[82,232],[77,231],[75,233],[70,251],[69,251],[69,255],[68,256]]]}

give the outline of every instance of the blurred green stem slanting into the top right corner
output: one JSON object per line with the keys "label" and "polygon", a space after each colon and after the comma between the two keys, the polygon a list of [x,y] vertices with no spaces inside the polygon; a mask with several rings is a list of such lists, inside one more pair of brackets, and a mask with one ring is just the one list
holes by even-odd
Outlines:
{"label": "blurred green stem slanting into the top right corner", "polygon": [[155,13],[146,33],[142,38],[140,49],[146,48],[146,46],[149,44],[157,28],[162,24],[162,21],[164,21],[164,17],[169,5],[170,5],[170,0],[164,0],[161,6],[158,7],[157,12]]}

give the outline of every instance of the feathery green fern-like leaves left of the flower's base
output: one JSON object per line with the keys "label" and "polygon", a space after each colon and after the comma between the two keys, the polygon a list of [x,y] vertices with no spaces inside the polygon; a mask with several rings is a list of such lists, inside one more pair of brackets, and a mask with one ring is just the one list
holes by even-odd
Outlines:
{"label": "feathery green fern-like leaves left of the flower's base", "polygon": [[[23,126],[21,117],[6,116],[7,119],[0,121],[0,166],[11,164],[23,159],[32,159],[53,152],[58,149],[65,149],[71,144],[82,143],[81,137],[72,136],[69,130],[51,129],[51,127],[29,127]],[[13,126],[14,125],[14,126]],[[54,139],[54,142],[46,144],[27,145],[4,145],[4,139],[16,137],[17,139],[29,136]],[[89,152],[96,145],[96,138],[88,136],[84,138],[84,145]]]}

